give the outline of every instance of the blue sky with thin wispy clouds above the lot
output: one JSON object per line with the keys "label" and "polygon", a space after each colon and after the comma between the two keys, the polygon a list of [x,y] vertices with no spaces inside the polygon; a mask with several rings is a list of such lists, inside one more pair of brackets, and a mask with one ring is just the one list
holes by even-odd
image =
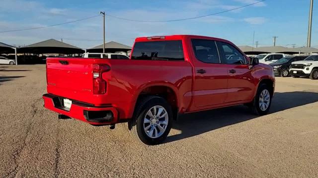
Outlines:
{"label": "blue sky with thin wispy clouds above the lot", "polygon": [[[136,37],[191,34],[236,45],[307,44],[310,0],[265,0],[215,16],[177,22],[132,22],[107,16],[162,21],[206,15],[258,0],[0,0],[0,31],[34,28],[106,13],[106,42],[133,45]],[[315,4],[316,3],[316,4]],[[50,28],[0,33],[0,42],[30,45],[56,39],[89,48],[103,43],[102,16]],[[312,46],[318,47],[318,3],[314,2]]]}

